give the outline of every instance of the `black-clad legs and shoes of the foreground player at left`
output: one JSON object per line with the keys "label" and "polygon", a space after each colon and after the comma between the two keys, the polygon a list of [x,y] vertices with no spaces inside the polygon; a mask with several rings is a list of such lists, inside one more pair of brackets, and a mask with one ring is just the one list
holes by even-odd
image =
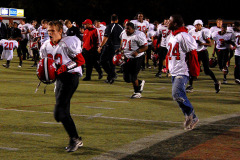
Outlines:
{"label": "black-clad legs and shoes of the foreground player at left", "polygon": [[61,74],[56,83],[56,105],[54,117],[57,122],[61,122],[68,133],[70,140],[66,148],[68,152],[73,152],[82,146],[81,137],[78,136],[75,123],[70,115],[70,100],[76,91],[79,83],[79,76],[71,73]]}

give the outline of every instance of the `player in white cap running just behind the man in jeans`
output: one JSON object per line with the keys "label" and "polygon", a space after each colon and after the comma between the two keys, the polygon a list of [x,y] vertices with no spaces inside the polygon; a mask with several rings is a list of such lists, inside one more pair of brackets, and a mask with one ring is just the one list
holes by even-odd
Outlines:
{"label": "player in white cap running just behind the man in jeans", "polygon": [[[189,34],[193,36],[193,38],[197,42],[197,53],[198,53],[198,61],[203,64],[204,73],[209,75],[212,80],[214,81],[216,93],[220,91],[220,82],[216,79],[212,70],[209,69],[209,56],[207,47],[211,46],[210,40],[210,30],[207,28],[203,28],[203,22],[200,19],[194,21],[193,25],[195,26],[194,29],[189,31]],[[193,92],[193,78],[190,77],[189,79],[189,86],[186,88],[187,92]]]}

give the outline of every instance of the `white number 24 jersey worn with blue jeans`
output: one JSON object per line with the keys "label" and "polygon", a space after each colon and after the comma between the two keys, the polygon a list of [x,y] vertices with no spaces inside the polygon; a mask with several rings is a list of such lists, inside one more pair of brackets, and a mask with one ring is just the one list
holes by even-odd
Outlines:
{"label": "white number 24 jersey worn with blue jeans", "polygon": [[197,49],[195,39],[186,32],[170,35],[168,42],[168,67],[172,76],[189,76],[186,53]]}

